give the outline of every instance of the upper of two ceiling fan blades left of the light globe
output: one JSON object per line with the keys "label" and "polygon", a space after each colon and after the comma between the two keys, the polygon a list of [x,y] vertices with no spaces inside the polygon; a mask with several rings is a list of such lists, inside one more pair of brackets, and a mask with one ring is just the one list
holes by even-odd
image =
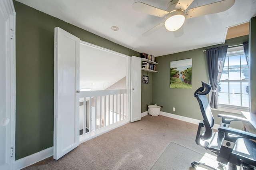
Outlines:
{"label": "upper of two ceiling fan blades left of the light globe", "polygon": [[164,17],[167,14],[169,14],[168,11],[161,10],[159,8],[156,8],[154,6],[150,6],[148,4],[144,4],[142,2],[135,2],[132,5],[132,8],[136,11],[144,12],[146,14],[150,14],[150,15],[154,15],[154,16],[158,16],[158,17]]}

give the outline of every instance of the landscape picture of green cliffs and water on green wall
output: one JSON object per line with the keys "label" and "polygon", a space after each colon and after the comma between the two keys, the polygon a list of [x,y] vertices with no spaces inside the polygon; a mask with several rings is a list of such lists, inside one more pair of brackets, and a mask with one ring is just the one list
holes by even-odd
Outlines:
{"label": "landscape picture of green cliffs and water on green wall", "polygon": [[192,89],[192,58],[170,62],[170,88]]}

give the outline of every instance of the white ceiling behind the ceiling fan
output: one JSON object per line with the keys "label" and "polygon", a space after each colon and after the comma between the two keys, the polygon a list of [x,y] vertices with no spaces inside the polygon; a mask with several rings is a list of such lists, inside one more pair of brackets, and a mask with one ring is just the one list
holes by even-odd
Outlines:
{"label": "white ceiling behind the ceiling fan", "polygon": [[[141,35],[164,20],[135,11],[137,1],[166,10],[170,0],[17,0],[140,53],[167,55],[224,43],[228,27],[256,16],[256,0],[236,0],[227,11],[186,19],[176,32],[160,28]],[[188,9],[220,0],[194,0]],[[117,26],[118,31],[111,30]]]}

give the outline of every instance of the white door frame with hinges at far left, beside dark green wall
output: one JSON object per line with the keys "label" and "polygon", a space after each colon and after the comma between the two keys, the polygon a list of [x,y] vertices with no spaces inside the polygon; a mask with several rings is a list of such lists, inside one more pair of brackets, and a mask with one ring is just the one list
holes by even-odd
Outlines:
{"label": "white door frame with hinges at far left, beside dark green wall", "polygon": [[15,21],[16,12],[12,0],[0,1],[0,9],[2,16],[6,20],[6,93],[7,93],[7,111],[10,117],[10,128],[8,130],[7,140],[9,149],[7,152],[10,169],[12,169],[15,161],[15,111],[16,111],[16,63],[15,63]]}

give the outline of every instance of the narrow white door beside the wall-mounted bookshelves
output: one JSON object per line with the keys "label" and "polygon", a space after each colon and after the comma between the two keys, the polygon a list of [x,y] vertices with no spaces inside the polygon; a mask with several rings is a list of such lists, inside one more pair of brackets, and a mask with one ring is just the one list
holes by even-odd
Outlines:
{"label": "narrow white door beside the wall-mounted bookshelves", "polygon": [[141,119],[141,58],[131,59],[131,122]]}

